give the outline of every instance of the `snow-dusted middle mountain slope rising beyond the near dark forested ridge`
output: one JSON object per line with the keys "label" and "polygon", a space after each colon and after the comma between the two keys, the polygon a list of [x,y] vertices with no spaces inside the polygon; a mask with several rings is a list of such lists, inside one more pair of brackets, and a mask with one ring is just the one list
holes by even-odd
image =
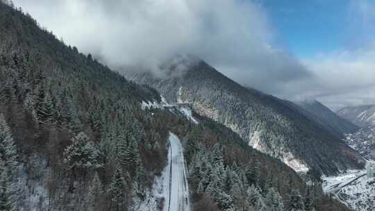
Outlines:
{"label": "snow-dusted middle mountain slope rising beyond the near dark forested ridge", "polygon": [[127,77],[155,87],[168,101],[194,103],[200,115],[228,126],[254,149],[283,160],[296,171],[313,168],[335,174],[360,166],[355,151],[288,101],[244,88],[203,61],[182,59],[165,69],[163,78],[151,74]]}

